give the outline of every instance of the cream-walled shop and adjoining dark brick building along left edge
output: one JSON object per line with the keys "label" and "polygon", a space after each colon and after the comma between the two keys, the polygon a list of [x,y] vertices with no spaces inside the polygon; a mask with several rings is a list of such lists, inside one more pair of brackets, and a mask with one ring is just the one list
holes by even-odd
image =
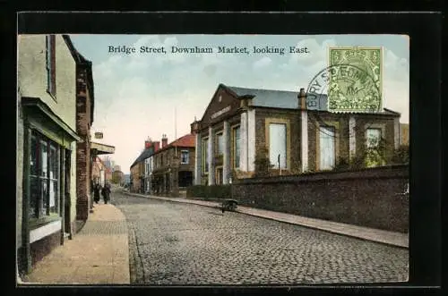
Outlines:
{"label": "cream-walled shop and adjoining dark brick building along left edge", "polygon": [[98,156],[115,148],[93,142],[91,62],[68,35],[18,37],[17,220],[18,274],[88,219]]}

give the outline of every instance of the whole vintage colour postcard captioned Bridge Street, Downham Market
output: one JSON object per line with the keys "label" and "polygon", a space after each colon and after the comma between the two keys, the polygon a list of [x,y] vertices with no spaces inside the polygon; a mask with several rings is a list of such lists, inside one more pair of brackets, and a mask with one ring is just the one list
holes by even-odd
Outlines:
{"label": "whole vintage colour postcard captioned Bridge Street, Downham Market", "polygon": [[408,36],[17,46],[21,283],[408,281]]}

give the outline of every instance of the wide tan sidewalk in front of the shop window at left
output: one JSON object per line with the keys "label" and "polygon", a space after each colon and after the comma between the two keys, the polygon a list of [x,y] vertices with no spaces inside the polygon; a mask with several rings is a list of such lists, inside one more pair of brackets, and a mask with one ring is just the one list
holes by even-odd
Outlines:
{"label": "wide tan sidewalk in front of the shop window at left", "polygon": [[125,216],[102,201],[82,230],[39,261],[24,284],[130,283]]}

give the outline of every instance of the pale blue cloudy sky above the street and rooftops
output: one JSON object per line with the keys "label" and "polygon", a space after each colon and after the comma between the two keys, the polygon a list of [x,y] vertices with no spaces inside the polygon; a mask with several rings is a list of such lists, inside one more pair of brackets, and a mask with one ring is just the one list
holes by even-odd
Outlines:
{"label": "pale blue cloudy sky above the street and rooftops", "polygon": [[[328,65],[328,47],[383,47],[383,107],[409,123],[409,37],[404,35],[70,35],[92,62],[95,110],[91,126],[99,143],[115,146],[111,156],[124,173],[144,140],[168,142],[190,132],[220,83],[254,89],[298,91]],[[116,52],[111,47],[135,48]],[[165,53],[141,53],[165,47]],[[213,53],[172,53],[172,47],[212,47]],[[218,47],[247,47],[218,53]],[[254,47],[284,47],[254,53]],[[289,53],[289,47],[307,53]]]}

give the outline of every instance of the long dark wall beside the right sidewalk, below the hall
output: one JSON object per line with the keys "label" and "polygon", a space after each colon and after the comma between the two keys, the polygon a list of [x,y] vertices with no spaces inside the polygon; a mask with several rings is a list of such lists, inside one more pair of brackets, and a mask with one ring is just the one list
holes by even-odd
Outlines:
{"label": "long dark wall beside the right sidewalk, below the hall", "polygon": [[394,232],[409,231],[409,166],[242,179],[242,205]]}

